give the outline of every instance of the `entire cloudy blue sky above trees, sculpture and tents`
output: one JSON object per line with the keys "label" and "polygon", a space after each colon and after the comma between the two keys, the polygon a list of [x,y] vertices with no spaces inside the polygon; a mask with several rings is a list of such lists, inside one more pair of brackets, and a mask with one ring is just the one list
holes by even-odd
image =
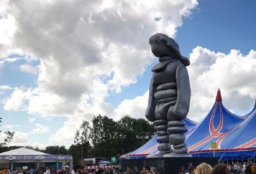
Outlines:
{"label": "entire cloudy blue sky above trees, sculpture and tents", "polygon": [[255,11],[252,0],[2,0],[1,130],[15,132],[10,145],[69,147],[94,115],[145,118],[155,33],[190,59],[188,118],[202,120],[219,88],[228,110],[247,114],[256,98]]}

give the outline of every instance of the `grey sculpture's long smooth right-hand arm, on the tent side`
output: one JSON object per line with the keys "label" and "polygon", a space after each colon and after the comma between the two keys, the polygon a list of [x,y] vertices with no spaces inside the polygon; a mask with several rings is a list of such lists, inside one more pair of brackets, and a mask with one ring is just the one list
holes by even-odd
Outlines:
{"label": "grey sculpture's long smooth right-hand arm, on the tent side", "polygon": [[187,69],[184,65],[178,66],[176,69],[177,84],[177,101],[174,106],[173,114],[179,119],[185,119],[190,109],[190,79],[188,78]]}

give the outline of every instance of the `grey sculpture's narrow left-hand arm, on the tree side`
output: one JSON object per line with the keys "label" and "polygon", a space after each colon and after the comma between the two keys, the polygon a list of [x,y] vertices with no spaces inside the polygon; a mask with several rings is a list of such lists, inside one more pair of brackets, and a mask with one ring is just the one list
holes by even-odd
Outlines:
{"label": "grey sculpture's narrow left-hand arm, on the tree side", "polygon": [[149,86],[149,102],[148,102],[148,108],[146,110],[146,118],[153,122],[154,121],[154,115],[155,115],[155,107],[156,107],[156,102],[155,102],[155,84],[153,82],[153,79],[150,81],[150,86]]}

